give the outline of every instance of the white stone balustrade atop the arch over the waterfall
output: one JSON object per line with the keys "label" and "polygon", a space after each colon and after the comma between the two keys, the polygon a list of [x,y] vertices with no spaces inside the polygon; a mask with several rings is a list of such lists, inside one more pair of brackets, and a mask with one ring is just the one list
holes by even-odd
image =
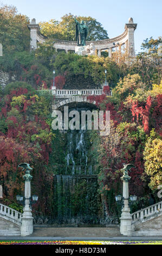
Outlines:
{"label": "white stone balustrade atop the arch over the waterfall", "polygon": [[57,97],[62,97],[62,96],[72,96],[72,95],[101,95],[102,89],[81,89],[81,90],[54,90],[53,88],[52,94],[55,94]]}

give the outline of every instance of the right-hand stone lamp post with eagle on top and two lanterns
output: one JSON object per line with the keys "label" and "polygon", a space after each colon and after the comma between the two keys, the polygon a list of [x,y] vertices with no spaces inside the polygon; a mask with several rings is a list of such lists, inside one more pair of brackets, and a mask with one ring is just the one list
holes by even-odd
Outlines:
{"label": "right-hand stone lamp post with eagle on top and two lanterns", "polygon": [[128,170],[132,167],[135,167],[133,164],[124,164],[124,168],[122,169],[124,172],[124,175],[121,177],[121,180],[123,182],[123,188],[122,188],[122,197],[116,196],[115,199],[121,200],[122,199],[122,213],[120,217],[120,233],[122,235],[126,236],[132,236],[132,216],[130,214],[130,208],[129,208],[129,199],[131,202],[135,199],[137,199],[137,196],[131,196],[129,197],[129,187],[128,183],[131,177],[128,175]]}

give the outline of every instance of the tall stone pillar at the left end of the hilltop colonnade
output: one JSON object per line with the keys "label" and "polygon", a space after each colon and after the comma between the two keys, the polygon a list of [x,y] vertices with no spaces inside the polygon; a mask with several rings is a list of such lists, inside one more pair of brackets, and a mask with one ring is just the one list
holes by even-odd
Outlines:
{"label": "tall stone pillar at the left end of the hilltop colonnade", "polygon": [[37,31],[40,29],[40,26],[33,19],[28,28],[30,29],[30,50],[35,50],[37,48]]}

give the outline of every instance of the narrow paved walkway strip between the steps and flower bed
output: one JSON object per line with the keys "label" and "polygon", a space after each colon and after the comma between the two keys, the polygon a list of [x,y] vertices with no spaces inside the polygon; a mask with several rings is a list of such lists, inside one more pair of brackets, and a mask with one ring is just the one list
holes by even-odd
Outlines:
{"label": "narrow paved walkway strip between the steps and flower bed", "polygon": [[74,240],[74,241],[151,241],[162,240],[162,236],[109,236],[109,237],[54,237],[54,236],[0,236],[0,240],[43,240],[43,241],[51,241],[51,240]]}

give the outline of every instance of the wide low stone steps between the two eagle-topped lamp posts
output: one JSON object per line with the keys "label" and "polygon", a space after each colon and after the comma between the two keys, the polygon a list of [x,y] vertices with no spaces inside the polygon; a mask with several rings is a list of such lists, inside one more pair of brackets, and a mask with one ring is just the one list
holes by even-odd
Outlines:
{"label": "wide low stone steps between the two eagle-topped lamp posts", "polygon": [[32,236],[53,236],[53,237],[107,237],[120,236],[119,227],[107,228],[52,228],[34,227]]}

